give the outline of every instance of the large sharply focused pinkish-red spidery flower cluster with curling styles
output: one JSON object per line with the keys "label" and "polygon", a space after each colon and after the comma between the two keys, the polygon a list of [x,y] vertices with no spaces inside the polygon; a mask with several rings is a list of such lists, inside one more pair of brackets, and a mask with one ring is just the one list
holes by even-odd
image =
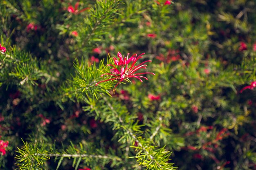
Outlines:
{"label": "large sharply focused pinkish-red spidery flower cluster with curling styles", "polygon": [[[101,75],[101,77],[103,76],[108,76],[108,79],[103,80],[101,82],[98,82],[96,84],[96,86],[102,82],[107,82],[107,81],[117,81],[117,84],[115,85],[115,88],[117,87],[118,84],[120,84],[121,82],[123,82],[124,80],[130,82],[129,78],[136,78],[139,79],[140,82],[143,82],[141,78],[144,78],[146,80],[148,80],[147,77],[141,76],[143,74],[153,74],[154,73],[135,73],[136,71],[138,71],[141,68],[146,69],[146,62],[151,62],[151,60],[147,60],[142,62],[141,64],[135,66],[136,62],[142,58],[142,55],[144,55],[145,53],[142,53],[141,55],[137,56],[137,54],[132,55],[132,57],[129,58],[129,53],[127,54],[127,57],[123,57],[121,55],[120,52],[117,53],[117,57],[119,58],[119,60],[116,57],[113,57],[113,64],[108,64],[107,66],[112,67],[112,69],[110,69],[110,71],[112,73],[105,73],[103,75]],[[131,64],[130,64],[131,63]],[[114,91],[115,91],[114,88]]]}

